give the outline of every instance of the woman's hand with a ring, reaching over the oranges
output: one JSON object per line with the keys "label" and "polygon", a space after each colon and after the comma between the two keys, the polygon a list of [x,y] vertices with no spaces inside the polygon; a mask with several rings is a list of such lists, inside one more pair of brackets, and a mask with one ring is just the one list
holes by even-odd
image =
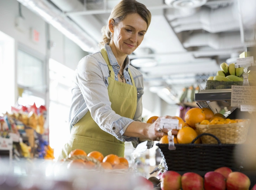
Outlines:
{"label": "woman's hand with a ring, reaching over the oranges", "polygon": [[[149,138],[152,141],[159,141],[162,136],[167,135],[168,129],[160,128],[160,121],[162,118],[177,119],[176,117],[172,117],[168,115],[163,117],[158,117],[155,122],[147,126],[144,134],[146,138]],[[177,130],[172,130],[173,135],[176,135],[177,133],[178,133]]]}

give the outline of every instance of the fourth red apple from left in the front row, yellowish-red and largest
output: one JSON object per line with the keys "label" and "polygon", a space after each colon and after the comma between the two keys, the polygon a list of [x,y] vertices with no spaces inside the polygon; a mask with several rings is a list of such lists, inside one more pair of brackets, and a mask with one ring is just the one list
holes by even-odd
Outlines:
{"label": "fourth red apple from left in the front row, yellowish-red and largest", "polygon": [[248,190],[251,181],[247,175],[241,172],[231,172],[226,181],[226,188],[228,190]]}

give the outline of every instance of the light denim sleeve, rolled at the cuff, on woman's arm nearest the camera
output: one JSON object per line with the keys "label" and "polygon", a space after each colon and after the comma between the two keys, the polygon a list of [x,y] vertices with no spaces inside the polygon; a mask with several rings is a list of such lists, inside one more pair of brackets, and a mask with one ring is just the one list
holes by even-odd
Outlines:
{"label": "light denim sleeve, rolled at the cuff, on woman's arm nearest the camera", "polygon": [[120,141],[137,141],[136,137],[122,136],[134,120],[116,114],[111,108],[106,83],[101,67],[108,67],[93,56],[84,57],[77,66],[76,80],[93,120],[107,133]]}

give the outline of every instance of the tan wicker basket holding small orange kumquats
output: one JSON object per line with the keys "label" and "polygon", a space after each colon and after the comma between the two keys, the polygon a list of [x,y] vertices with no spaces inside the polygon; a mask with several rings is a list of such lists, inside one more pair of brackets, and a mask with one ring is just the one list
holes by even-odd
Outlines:
{"label": "tan wicker basket holding small orange kumquats", "polygon": [[[244,120],[239,123],[216,124],[216,125],[200,125],[196,124],[199,133],[210,133],[218,137],[222,144],[242,144],[246,141],[248,128],[251,120]],[[202,136],[203,144],[216,144],[217,141],[213,137]]]}

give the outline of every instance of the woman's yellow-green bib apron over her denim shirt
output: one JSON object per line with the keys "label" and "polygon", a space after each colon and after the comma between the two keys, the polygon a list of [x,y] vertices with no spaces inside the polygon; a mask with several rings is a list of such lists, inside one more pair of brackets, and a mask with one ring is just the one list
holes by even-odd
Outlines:
{"label": "woman's yellow-green bib apron over her denim shirt", "polygon": [[[130,69],[128,69],[128,72],[133,85],[116,81],[105,48],[101,49],[101,54],[110,70],[108,95],[111,108],[116,114],[133,119],[137,106],[137,89]],[[71,137],[68,143],[64,145],[58,159],[68,157],[69,153],[75,149],[82,149],[87,154],[91,151],[99,151],[103,156],[109,154],[124,156],[124,142],[103,131],[92,119],[90,111],[72,127]]]}

